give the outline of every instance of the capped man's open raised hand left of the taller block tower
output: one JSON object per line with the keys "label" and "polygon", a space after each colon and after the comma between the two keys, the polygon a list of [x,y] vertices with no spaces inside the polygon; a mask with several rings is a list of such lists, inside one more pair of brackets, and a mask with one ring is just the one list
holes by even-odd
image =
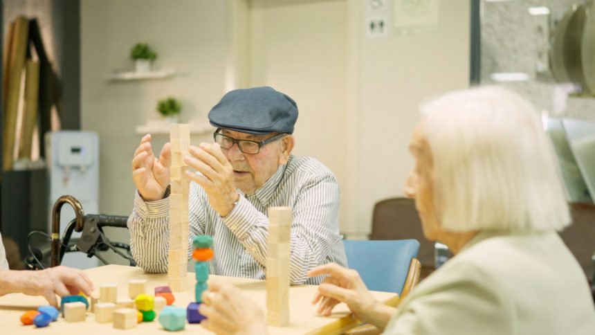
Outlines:
{"label": "capped man's open raised hand left of the taller block tower", "polygon": [[132,180],[145,201],[163,199],[170,184],[170,143],[165,143],[159,159],[151,148],[151,134],[143,136],[132,159]]}

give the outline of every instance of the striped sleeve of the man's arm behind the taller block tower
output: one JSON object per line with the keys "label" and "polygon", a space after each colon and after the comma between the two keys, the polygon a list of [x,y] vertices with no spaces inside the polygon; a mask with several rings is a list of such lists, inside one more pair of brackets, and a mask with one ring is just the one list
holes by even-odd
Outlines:
{"label": "striped sleeve of the man's arm behind the taller block tower", "polygon": [[[196,204],[189,208],[188,257],[192,255],[192,239],[204,231],[204,209],[197,201],[196,187],[190,183],[189,203]],[[168,251],[170,250],[170,188],[163,199],[144,201],[136,191],[134,208],[128,218],[130,233],[130,251],[140,266],[147,273],[166,273]]]}

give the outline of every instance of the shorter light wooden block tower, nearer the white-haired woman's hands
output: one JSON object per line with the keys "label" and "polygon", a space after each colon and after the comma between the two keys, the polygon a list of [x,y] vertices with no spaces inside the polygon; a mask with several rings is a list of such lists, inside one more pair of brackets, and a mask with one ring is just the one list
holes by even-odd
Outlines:
{"label": "shorter light wooden block tower, nearer the white-haired woman's hands", "polygon": [[289,325],[289,236],[292,220],[291,208],[268,208],[266,323],[277,327]]}

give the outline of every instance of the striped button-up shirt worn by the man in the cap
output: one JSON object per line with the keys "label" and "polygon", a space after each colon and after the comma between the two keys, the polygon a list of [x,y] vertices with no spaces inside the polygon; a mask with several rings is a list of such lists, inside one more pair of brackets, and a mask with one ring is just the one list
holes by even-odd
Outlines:
{"label": "striped button-up shirt worn by the man in the cap", "polygon": [[[332,172],[319,161],[290,156],[286,165],[254,192],[240,194],[227,217],[209,204],[200,185],[191,182],[189,201],[190,240],[212,235],[214,257],[210,273],[243,278],[265,278],[266,245],[270,206],[293,208],[291,224],[291,284],[320,284],[321,276],[307,278],[314,266],[335,262],[347,266],[339,234],[339,185]],[[138,192],[128,219],[130,249],[138,266],[149,273],[167,272],[169,248],[169,191],[164,199],[143,201]]]}

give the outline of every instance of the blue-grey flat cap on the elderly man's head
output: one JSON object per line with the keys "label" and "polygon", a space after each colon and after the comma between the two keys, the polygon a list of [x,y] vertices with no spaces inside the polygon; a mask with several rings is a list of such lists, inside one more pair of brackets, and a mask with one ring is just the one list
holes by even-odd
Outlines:
{"label": "blue-grey flat cap on the elderly man's head", "polygon": [[214,127],[257,135],[293,134],[295,120],[295,101],[271,87],[229,91],[209,111]]}

